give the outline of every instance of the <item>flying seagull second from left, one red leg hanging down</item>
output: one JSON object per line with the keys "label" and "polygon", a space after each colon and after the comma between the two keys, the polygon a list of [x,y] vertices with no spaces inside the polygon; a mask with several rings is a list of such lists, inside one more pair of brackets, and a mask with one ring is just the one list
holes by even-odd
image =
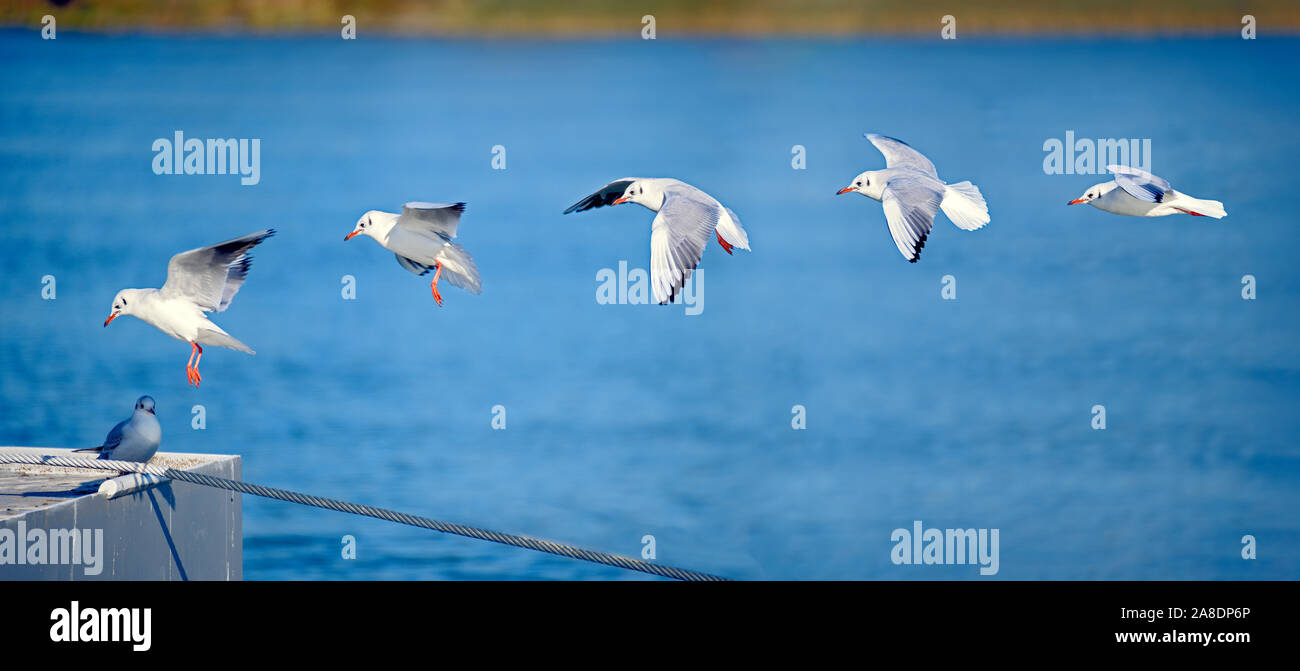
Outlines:
{"label": "flying seagull second from left, one red leg hanging down", "polygon": [[434,270],[429,289],[441,306],[438,278],[443,270],[452,286],[473,294],[484,293],[473,256],[451,242],[464,211],[464,203],[407,203],[402,205],[400,215],[372,209],[361,215],[343,242],[358,234],[369,235],[381,247],[395,254],[402,268],[415,274]]}

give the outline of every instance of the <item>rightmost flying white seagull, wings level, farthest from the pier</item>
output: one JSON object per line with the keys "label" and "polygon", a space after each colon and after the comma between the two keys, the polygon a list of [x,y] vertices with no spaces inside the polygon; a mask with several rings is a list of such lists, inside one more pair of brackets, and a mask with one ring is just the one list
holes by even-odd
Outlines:
{"label": "rightmost flying white seagull, wings level, farthest from the pier", "polygon": [[1088,203],[1097,209],[1131,217],[1164,217],[1178,213],[1214,218],[1227,216],[1223,203],[1179,194],[1169,182],[1147,170],[1127,165],[1108,165],[1106,169],[1115,176],[1114,179],[1092,185],[1082,196],[1066,204]]}

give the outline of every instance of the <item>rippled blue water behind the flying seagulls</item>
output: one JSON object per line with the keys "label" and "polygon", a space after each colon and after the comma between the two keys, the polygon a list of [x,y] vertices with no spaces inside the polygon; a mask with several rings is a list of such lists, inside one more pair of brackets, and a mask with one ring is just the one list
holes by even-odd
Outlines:
{"label": "rippled blue water behind the flying seagulls", "polygon": [[[734,577],[978,577],[893,564],[914,520],[1000,529],[998,577],[1297,577],[1297,47],[0,33],[0,443],[95,445],[148,393],[164,450],[239,454],[252,482],[636,557],[653,534]],[[174,130],[260,138],[261,182],[153,174]],[[1067,130],[1149,138],[1227,218],[1065,207],[1105,181],[1044,174]],[[884,166],[863,131],[974,181],[992,224],[940,221],[907,264],[878,203],[833,195]],[[701,315],[595,302],[599,269],[647,267],[651,215],[560,212],[625,174],[745,222],[753,254],[705,255]],[[407,200],[469,203],[482,295],[437,308],[342,242]],[[100,326],[172,254],[268,226],[214,317],[256,356],[209,349],[194,390],[185,343]],[[641,577],[243,506],[250,579]]]}

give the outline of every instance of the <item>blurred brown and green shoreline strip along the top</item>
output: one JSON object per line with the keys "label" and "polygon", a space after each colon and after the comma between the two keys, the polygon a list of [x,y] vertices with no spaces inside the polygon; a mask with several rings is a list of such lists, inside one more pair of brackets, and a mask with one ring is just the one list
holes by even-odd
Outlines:
{"label": "blurred brown and green shoreline strip along the top", "polygon": [[647,0],[629,5],[575,0],[133,0],[0,4],[0,27],[39,30],[44,16],[60,29],[103,33],[329,34],[355,18],[360,35],[582,39],[642,36],[654,17],[656,39],[715,36],[937,35],[1230,35],[1247,14],[1262,35],[1300,33],[1300,3],[1262,0],[1062,0],[1009,3],[715,1]]}

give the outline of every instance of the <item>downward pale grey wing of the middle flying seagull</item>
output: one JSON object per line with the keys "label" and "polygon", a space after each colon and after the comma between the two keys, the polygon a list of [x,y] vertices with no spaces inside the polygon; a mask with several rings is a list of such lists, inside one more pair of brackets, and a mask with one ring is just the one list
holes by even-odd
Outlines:
{"label": "downward pale grey wing of the middle flying seagull", "polygon": [[693,191],[668,191],[650,226],[650,285],[659,304],[671,303],[686,285],[722,213],[718,203]]}

